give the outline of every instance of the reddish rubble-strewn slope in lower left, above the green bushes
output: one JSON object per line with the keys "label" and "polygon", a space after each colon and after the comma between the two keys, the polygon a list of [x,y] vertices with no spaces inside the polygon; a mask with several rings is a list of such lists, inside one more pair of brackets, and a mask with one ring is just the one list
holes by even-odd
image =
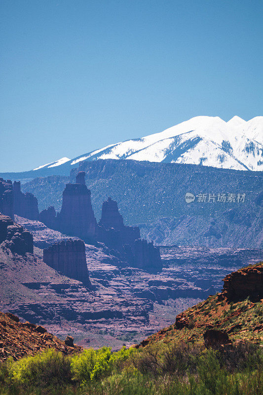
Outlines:
{"label": "reddish rubble-strewn slope in lower left, above the green bushes", "polygon": [[74,345],[73,340],[68,336],[63,342],[42,326],[30,322],[23,323],[13,314],[0,312],[1,362],[10,356],[17,360],[22,356],[33,356],[50,348],[65,355],[82,351],[82,347]]}

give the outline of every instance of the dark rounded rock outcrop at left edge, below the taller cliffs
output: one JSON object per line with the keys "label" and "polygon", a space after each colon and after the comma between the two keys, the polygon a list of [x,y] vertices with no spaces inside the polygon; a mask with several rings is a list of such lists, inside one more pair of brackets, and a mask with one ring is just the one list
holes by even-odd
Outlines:
{"label": "dark rounded rock outcrop at left edge, below the taller cliffs", "polygon": [[33,236],[25,231],[23,226],[15,224],[13,220],[0,214],[0,244],[12,252],[24,255],[33,253]]}

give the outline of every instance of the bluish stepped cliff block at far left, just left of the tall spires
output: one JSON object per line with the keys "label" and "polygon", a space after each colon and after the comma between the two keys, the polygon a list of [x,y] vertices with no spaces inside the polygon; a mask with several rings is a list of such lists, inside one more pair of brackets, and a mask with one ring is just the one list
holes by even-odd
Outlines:
{"label": "bluish stepped cliff block at far left, just left of the tall spires", "polygon": [[31,220],[38,220],[38,199],[33,194],[21,192],[20,181],[13,183],[14,214]]}

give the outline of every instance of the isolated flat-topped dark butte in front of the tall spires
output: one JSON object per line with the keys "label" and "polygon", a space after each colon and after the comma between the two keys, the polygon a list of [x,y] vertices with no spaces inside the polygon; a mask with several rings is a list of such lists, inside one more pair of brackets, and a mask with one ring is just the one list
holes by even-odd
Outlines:
{"label": "isolated flat-topped dark butte in front of the tall spires", "polygon": [[82,240],[69,239],[52,244],[43,250],[43,261],[56,271],[91,286]]}

